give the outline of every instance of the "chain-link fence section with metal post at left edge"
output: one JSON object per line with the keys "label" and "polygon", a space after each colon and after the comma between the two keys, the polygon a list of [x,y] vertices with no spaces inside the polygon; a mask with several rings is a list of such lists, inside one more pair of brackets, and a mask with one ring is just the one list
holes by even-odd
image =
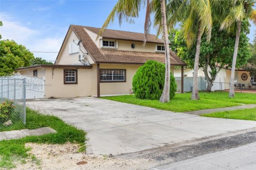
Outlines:
{"label": "chain-link fence section with metal post at left edge", "polygon": [[26,123],[26,79],[0,77],[0,131]]}

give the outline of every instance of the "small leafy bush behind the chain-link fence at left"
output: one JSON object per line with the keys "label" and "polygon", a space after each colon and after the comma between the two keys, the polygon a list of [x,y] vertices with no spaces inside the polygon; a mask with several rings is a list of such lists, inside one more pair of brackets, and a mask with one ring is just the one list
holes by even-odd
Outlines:
{"label": "small leafy bush behind the chain-link fence at left", "polygon": [[11,114],[14,113],[15,106],[13,101],[6,100],[0,104],[0,120],[8,120],[11,118]]}

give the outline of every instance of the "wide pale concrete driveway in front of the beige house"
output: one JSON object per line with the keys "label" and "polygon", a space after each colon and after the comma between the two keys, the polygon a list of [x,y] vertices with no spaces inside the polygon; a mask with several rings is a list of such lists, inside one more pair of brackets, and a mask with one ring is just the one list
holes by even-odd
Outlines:
{"label": "wide pale concrete driveway in front of the beige house", "polygon": [[88,132],[87,152],[124,154],[256,127],[255,121],[199,117],[85,97],[28,100]]}

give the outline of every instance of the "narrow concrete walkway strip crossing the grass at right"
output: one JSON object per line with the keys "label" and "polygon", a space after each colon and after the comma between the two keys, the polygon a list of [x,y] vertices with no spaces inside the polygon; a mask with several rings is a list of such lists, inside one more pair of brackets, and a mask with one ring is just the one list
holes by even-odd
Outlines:
{"label": "narrow concrete walkway strip crossing the grass at right", "polygon": [[254,108],[256,105],[241,105],[241,106],[233,106],[233,107],[224,107],[224,108],[212,108],[212,109],[204,109],[200,111],[191,111],[191,112],[185,112],[186,114],[190,115],[202,115],[206,113],[213,113],[213,112],[223,112],[223,111],[235,111],[240,109],[246,109],[246,108]]}

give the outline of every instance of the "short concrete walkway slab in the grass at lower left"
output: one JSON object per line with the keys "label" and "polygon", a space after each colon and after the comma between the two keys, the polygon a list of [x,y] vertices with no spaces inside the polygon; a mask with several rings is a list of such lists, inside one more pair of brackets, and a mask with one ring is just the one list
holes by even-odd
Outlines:
{"label": "short concrete walkway slab in the grass at lower left", "polygon": [[48,133],[56,133],[55,130],[45,127],[45,128],[38,128],[38,129],[22,129],[22,130],[15,130],[15,131],[5,131],[0,132],[0,140],[10,140],[10,139],[19,139],[26,136],[39,136]]}

